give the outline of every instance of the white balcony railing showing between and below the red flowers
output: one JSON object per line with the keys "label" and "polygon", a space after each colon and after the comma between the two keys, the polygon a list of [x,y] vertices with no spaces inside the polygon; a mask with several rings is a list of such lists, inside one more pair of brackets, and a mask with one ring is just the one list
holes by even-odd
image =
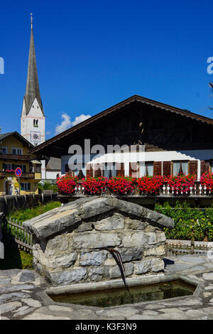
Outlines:
{"label": "white balcony railing showing between and below the red flowers", "polygon": [[[75,192],[72,195],[68,195],[69,197],[82,197],[88,196],[89,194],[85,191],[82,186],[82,181],[78,181],[75,187]],[[95,195],[95,194],[90,194]],[[99,194],[100,195],[100,194]],[[104,195],[112,195],[109,188],[105,188],[105,191],[102,191],[102,196]],[[115,193],[113,195],[116,195]],[[190,190],[185,192],[182,188],[170,188],[167,182],[163,183],[161,186],[159,193],[151,194],[151,193],[141,193],[138,184],[133,185],[132,193],[127,195],[116,195],[116,197],[136,197],[136,198],[153,198],[153,197],[163,197],[163,198],[195,198],[195,197],[207,197],[213,198],[213,189],[209,190],[205,185],[202,185],[200,181],[195,181],[195,186],[190,187]]]}

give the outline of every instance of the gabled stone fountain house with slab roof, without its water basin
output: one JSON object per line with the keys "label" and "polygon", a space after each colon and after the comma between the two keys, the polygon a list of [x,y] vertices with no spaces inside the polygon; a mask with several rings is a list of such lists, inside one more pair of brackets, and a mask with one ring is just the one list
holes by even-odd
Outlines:
{"label": "gabled stone fountain house with slab roof, without its water basin", "polygon": [[81,198],[23,223],[33,234],[33,264],[55,286],[121,277],[111,254],[117,249],[126,277],[164,269],[165,234],[173,220],[112,196]]}

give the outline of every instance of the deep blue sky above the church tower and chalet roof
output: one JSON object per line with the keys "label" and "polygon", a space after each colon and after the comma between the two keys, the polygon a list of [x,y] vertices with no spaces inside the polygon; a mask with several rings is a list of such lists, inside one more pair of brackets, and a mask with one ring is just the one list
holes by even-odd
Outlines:
{"label": "deep blue sky above the church tower and chalet roof", "polygon": [[21,131],[31,12],[47,138],[63,113],[75,124],[134,94],[212,117],[212,10],[200,0],[2,2],[2,132]]}

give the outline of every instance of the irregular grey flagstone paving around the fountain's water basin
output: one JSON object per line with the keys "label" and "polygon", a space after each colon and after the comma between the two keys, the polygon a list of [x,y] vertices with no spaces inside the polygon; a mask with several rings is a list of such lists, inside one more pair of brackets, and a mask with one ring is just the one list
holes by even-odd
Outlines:
{"label": "irregular grey flagstone paving around the fountain's water basin", "polygon": [[183,276],[197,289],[192,296],[99,308],[53,302],[45,293],[50,285],[35,271],[1,270],[1,320],[213,320],[212,256],[166,257],[160,276]]}

